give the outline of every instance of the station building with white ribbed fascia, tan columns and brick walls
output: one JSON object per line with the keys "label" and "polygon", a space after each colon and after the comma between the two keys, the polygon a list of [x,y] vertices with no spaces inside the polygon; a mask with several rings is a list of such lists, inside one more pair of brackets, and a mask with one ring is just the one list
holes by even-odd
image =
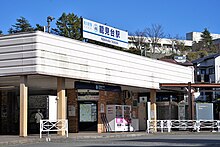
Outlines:
{"label": "station building with white ribbed fascia, tan columns and brick walls", "polygon": [[[106,132],[103,114],[110,113],[110,105],[131,106],[131,118],[139,119],[139,127],[144,128],[146,119],[157,119],[159,84],[193,82],[193,73],[192,67],[44,32],[4,35],[0,37],[0,133],[23,137],[32,133],[37,109],[45,118],[51,115],[50,96],[56,96],[53,110],[57,119],[68,119],[69,132]],[[149,118],[142,114],[146,106],[140,93],[149,93]]]}

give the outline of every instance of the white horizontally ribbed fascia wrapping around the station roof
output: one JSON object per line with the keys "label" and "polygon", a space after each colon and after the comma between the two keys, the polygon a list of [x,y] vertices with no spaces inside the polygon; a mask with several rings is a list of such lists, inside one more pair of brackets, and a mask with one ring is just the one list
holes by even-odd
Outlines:
{"label": "white horizontally ribbed fascia wrapping around the station roof", "polygon": [[44,74],[153,89],[193,81],[189,67],[43,32],[0,37],[0,59],[0,76]]}

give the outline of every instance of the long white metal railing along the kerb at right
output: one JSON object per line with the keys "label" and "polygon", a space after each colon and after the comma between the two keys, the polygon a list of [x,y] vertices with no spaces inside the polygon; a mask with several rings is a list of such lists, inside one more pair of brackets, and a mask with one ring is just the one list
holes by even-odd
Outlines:
{"label": "long white metal railing along the kerb at right", "polygon": [[171,132],[175,130],[193,130],[200,132],[201,129],[220,132],[220,120],[147,120],[147,133],[150,133],[151,129],[156,131]]}

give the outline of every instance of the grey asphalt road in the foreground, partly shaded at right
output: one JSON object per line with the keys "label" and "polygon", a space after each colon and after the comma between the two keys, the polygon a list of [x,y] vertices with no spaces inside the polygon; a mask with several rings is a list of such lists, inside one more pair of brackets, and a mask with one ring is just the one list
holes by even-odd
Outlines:
{"label": "grey asphalt road in the foreground, partly shaded at right", "polygon": [[134,146],[220,146],[220,134],[185,134],[169,135],[157,134],[144,137],[132,138],[102,138],[102,139],[59,139],[50,142],[40,142],[35,144],[19,144],[7,147],[134,147]]}

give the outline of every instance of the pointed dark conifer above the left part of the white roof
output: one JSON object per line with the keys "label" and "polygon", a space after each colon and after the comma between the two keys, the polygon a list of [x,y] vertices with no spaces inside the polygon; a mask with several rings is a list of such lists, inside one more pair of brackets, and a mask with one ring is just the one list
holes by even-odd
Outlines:
{"label": "pointed dark conifer above the left part of the white roof", "polygon": [[24,17],[21,16],[20,18],[16,19],[16,21],[17,22],[15,23],[15,25],[12,25],[12,27],[9,29],[9,34],[34,31],[34,28]]}

